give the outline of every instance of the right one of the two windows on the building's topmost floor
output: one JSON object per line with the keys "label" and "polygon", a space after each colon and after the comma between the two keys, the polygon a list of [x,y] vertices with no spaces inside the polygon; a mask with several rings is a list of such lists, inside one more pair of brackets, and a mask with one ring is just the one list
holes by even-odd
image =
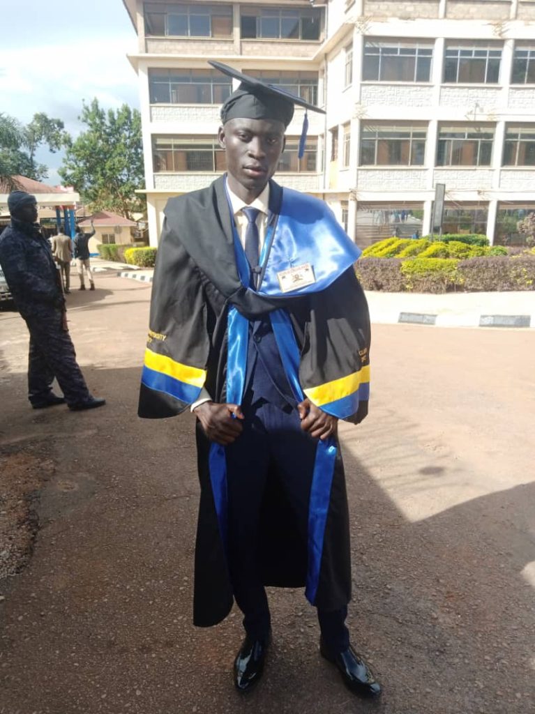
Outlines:
{"label": "right one of the two windows on the building's topmost floor", "polygon": [[319,40],[319,8],[244,7],[241,10],[242,39]]}

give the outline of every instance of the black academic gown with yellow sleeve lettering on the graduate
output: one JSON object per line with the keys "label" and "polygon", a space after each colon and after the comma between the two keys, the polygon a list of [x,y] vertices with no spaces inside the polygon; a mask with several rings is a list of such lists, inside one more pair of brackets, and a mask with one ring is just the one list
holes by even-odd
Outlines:
{"label": "black academic gown with yellow sleeve lettering on the graduate", "polygon": [[[282,189],[271,181],[270,220],[276,221]],[[249,320],[284,307],[301,353],[299,379],[318,385],[366,366],[369,360],[369,313],[353,268],[319,293],[268,298],[244,287],[234,257],[231,215],[223,178],[208,188],[171,199],[165,210],[151,301],[148,350],[183,367],[206,372],[204,387],[216,402],[226,401],[227,313],[236,307]],[[204,392],[203,392],[204,393]],[[141,384],[139,416],[174,416],[196,398],[171,396]],[[348,421],[367,413],[361,401]],[[223,620],[233,596],[225,543],[216,518],[209,474],[209,442],[198,424],[201,485],[196,538],[194,623],[209,626]],[[261,572],[266,585],[304,585],[307,555],[276,474],[266,493],[261,528]],[[321,570],[314,605],[336,610],[351,597],[349,516],[344,469],[339,453],[331,486]]]}

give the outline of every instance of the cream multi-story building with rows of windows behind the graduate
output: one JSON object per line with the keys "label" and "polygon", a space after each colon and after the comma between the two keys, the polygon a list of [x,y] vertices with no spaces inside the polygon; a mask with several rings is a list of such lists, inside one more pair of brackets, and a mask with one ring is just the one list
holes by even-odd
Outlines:
{"label": "cream multi-story building with rows of windows behind the graduate", "polygon": [[207,59],[326,109],[297,108],[277,171],[329,203],[361,246],[431,230],[519,243],[535,211],[535,1],[123,0],[139,36],[151,244],[167,198],[224,171],[231,80]]}

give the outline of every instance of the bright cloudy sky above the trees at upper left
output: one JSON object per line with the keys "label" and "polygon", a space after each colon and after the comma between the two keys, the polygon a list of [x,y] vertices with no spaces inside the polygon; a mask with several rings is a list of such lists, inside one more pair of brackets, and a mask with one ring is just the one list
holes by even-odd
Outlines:
{"label": "bright cloudy sky above the trees at upper left", "polygon": [[[137,77],[127,53],[137,37],[122,0],[14,0],[0,3],[0,111],[31,121],[38,111],[62,119],[76,135],[82,100],[139,109]],[[60,182],[59,154],[41,151],[47,183]]]}

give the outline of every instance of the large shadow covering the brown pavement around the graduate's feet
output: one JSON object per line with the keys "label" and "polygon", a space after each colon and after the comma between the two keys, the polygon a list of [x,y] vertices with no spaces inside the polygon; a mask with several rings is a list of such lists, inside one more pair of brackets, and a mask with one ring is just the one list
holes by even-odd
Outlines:
{"label": "large shadow covering the brown pavement around the graduate's feet", "polygon": [[[55,468],[37,508],[34,557],[0,582],[4,710],[529,711],[535,603],[526,566],[535,560],[535,486],[409,522],[349,448],[350,628],[384,696],[366,703],[344,690],[319,657],[316,616],[304,595],[270,590],[271,658],[259,689],[240,698],[231,683],[239,613],[210,630],[191,625],[194,419],[139,420],[139,372],[84,368],[91,390],[109,401],[87,413],[34,413],[24,375],[3,385],[1,452],[29,451]],[[419,478],[448,469],[431,461]]]}

